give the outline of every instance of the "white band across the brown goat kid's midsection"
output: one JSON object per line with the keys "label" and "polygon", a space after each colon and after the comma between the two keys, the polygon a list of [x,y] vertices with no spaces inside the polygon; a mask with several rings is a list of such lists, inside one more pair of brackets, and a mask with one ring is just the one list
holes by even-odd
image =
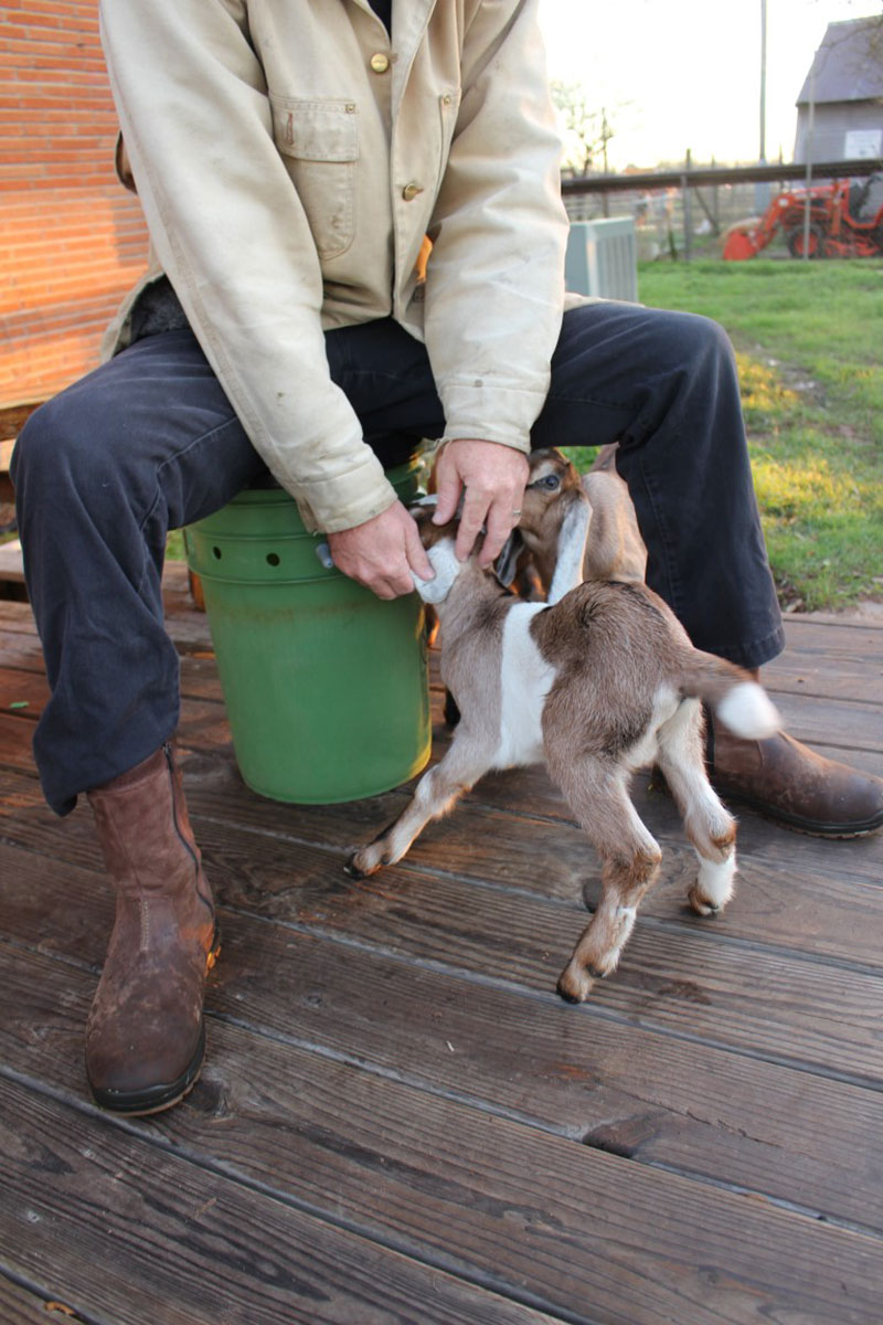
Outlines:
{"label": "white band across the brown goat kid's midsection", "polygon": [[556,670],[534,639],[531,621],[545,603],[515,603],[503,621],[500,649],[500,734],[494,768],[543,763],[543,709]]}

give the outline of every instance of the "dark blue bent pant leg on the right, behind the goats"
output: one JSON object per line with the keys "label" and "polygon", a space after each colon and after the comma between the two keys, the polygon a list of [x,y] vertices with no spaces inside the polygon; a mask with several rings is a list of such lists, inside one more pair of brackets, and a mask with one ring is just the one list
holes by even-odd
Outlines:
{"label": "dark blue bent pant leg on the right, behind the goats", "polygon": [[739,380],[707,318],[630,303],[564,315],[535,447],[618,441],[647,583],[698,648],[755,668],[784,648]]}

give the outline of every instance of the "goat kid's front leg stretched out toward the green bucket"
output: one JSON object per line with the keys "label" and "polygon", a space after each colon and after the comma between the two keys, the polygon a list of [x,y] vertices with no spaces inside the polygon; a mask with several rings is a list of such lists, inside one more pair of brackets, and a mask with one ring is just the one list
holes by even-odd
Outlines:
{"label": "goat kid's front leg stretched out toward the green bucket", "polygon": [[449,814],[459,798],[490,768],[485,742],[470,739],[461,726],[445,758],[422,775],[417,788],[396,820],[356,851],[347,864],[347,873],[364,878],[381,865],[395,865],[405,855],[432,819]]}

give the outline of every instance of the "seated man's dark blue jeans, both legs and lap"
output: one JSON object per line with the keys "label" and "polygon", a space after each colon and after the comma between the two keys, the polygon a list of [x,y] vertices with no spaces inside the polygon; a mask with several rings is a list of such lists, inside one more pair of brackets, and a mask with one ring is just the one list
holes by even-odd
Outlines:
{"label": "seated man's dark blue jeans, both legs and lap", "polygon": [[[396,323],[331,331],[327,348],[384,464],[441,436],[426,352]],[[625,303],[565,315],[532,443],[614,440],[650,586],[700,648],[744,666],[774,657],[781,619],[732,351],[715,323]],[[265,476],[189,330],[139,341],[29,419],[12,477],[52,688],[34,757],[58,814],[173,733],[165,535]]]}

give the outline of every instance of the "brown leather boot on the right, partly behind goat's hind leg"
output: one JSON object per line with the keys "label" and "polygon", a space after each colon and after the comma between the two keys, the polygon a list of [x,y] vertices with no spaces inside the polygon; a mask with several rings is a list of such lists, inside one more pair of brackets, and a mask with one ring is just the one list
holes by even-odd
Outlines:
{"label": "brown leather boot on the right, partly behind goat's hind leg", "polygon": [[883,779],[825,759],[785,731],[741,741],[710,717],[708,776],[724,799],[817,837],[862,837],[883,825]]}

